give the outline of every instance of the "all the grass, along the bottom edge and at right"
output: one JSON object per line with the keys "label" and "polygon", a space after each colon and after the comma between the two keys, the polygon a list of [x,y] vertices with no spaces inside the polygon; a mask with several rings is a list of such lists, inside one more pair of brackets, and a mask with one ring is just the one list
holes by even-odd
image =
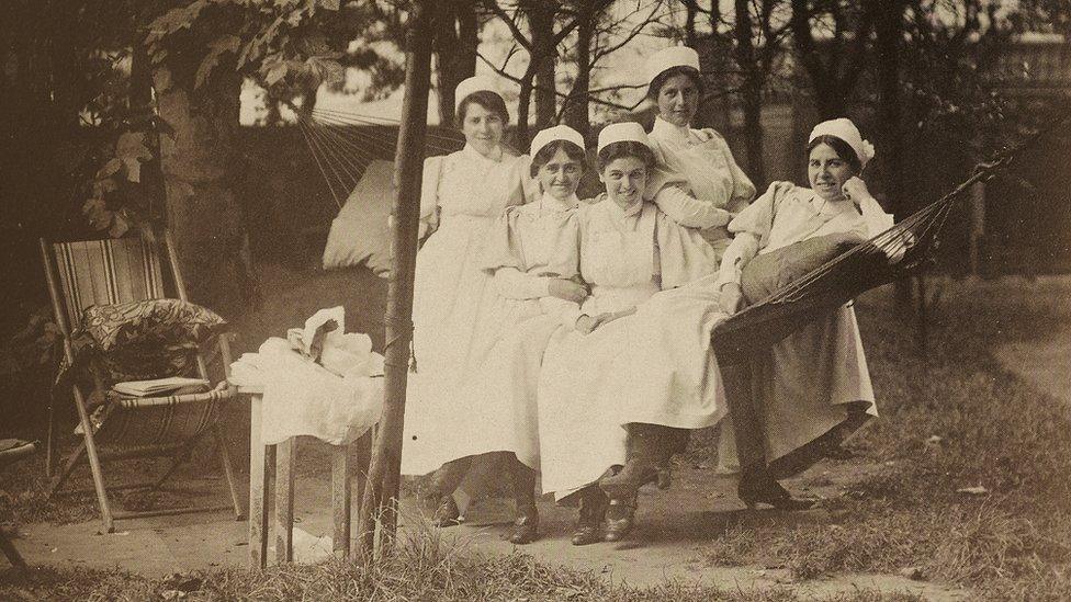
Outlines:
{"label": "all the grass, along the bottom edge and at right", "polygon": [[[888,292],[858,304],[882,416],[852,440],[855,457],[836,462],[882,469],[824,500],[824,511],[808,513],[808,520],[742,513],[703,544],[701,554],[711,565],[787,567],[799,579],[917,567],[926,579],[968,588],[979,599],[1071,599],[1069,411],[1007,372],[994,355],[1002,344],[1067,336],[1071,279],[938,286],[925,359],[917,353],[914,329],[891,317]],[[820,467],[809,478],[820,480],[821,473]],[[15,492],[26,486],[31,493]],[[0,515],[64,520],[59,508],[40,510],[36,487],[27,468],[5,479]],[[969,487],[983,489],[958,491]],[[89,570],[0,573],[2,600],[146,600],[178,598],[167,592],[183,590],[188,600],[797,599],[790,586],[765,592],[611,587],[599,575],[542,566],[519,554],[462,554],[427,533],[374,567],[331,561],[273,567],[264,575],[221,569],[170,580]],[[846,598],[907,599],[867,591]]]}

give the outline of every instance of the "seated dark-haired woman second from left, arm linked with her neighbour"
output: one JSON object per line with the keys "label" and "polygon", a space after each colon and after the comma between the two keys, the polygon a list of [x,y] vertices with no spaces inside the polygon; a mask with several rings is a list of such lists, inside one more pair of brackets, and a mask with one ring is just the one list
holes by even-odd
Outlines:
{"label": "seated dark-haired woman second from left, arm linked with her neighbour", "polygon": [[559,125],[532,139],[531,174],[540,197],[508,207],[488,232],[482,268],[494,274],[507,316],[500,339],[466,397],[481,399],[485,428],[512,431],[511,485],[517,520],[509,541],[539,536],[536,472],[539,430],[536,387],[546,341],[564,322],[576,321],[587,288],[578,280],[576,186],[584,173],[584,137]]}

